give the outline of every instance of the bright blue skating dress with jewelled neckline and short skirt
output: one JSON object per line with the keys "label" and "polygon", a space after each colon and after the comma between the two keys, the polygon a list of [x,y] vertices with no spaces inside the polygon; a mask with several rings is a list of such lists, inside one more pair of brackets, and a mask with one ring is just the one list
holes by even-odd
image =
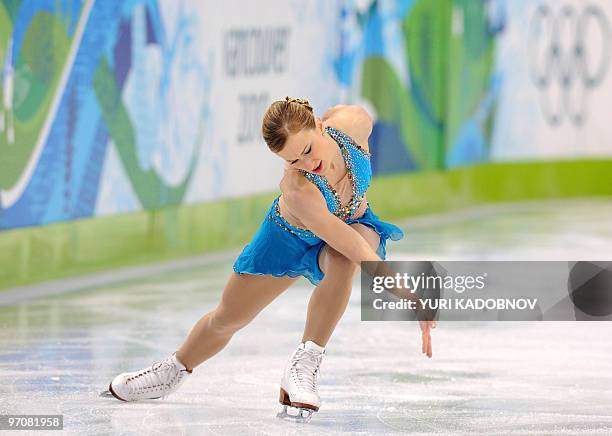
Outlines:
{"label": "bright blue skating dress with jewelled neckline and short skirt", "polygon": [[[370,154],[339,129],[326,127],[327,133],[340,147],[351,183],[352,196],[348,204],[342,205],[340,196],[323,176],[302,171],[323,194],[327,208],[347,224],[361,223],[374,229],[380,236],[376,253],[386,257],[388,239],[397,241],[404,236],[402,230],[381,221],[372,212],[369,204],[362,216],[351,218],[364,200],[364,193],[370,186],[372,167]],[[319,253],[325,241],[310,230],[290,224],[280,213],[277,197],[264,218],[253,240],[242,250],[234,262],[234,271],[243,274],[269,274],[277,277],[304,276],[314,285],[323,279],[319,268]]]}

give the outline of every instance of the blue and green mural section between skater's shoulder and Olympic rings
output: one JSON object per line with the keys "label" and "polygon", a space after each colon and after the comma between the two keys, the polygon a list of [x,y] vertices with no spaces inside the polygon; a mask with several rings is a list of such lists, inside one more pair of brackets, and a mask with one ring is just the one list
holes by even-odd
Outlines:
{"label": "blue and green mural section between skater's shoulder and Olympic rings", "polygon": [[495,39],[504,28],[493,1],[359,5],[343,8],[336,73],[376,111],[370,139],[375,172],[487,160],[499,89]]}

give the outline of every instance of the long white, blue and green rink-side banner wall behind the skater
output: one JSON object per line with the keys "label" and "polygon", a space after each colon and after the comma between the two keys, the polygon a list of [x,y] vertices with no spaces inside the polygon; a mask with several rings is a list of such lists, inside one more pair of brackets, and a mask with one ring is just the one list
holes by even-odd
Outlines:
{"label": "long white, blue and green rink-side banner wall behind the skater", "polygon": [[[604,134],[562,152],[560,139],[572,135],[555,136],[536,116],[539,95],[555,96],[525,75],[521,54],[527,43],[539,48],[539,65],[568,50],[534,26],[542,1],[278,0],[286,21],[261,27],[265,10],[226,25],[208,0],[1,0],[0,229],[275,190],[281,167],[256,138],[258,123],[269,100],[299,89],[325,104],[345,95],[373,112],[376,175],[503,160],[519,146],[523,158],[590,156],[580,147],[595,143],[609,155],[612,131],[596,120],[609,99],[589,103],[599,108],[591,131]],[[609,3],[564,2],[609,34]],[[562,13],[546,8],[547,20]],[[538,41],[521,39],[520,29]],[[304,58],[316,44],[318,58]],[[607,73],[608,44],[600,45]],[[257,56],[274,68],[250,65]],[[240,74],[227,74],[229,65]],[[551,74],[547,83],[564,79]],[[598,94],[612,98],[601,76]],[[241,135],[251,143],[236,141]]]}

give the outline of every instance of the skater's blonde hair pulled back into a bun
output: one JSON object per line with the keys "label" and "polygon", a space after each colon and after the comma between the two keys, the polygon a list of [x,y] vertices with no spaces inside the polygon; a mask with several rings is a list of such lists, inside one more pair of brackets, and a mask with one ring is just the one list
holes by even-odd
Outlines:
{"label": "skater's blonde hair pulled back into a bun", "polygon": [[315,127],[314,112],[308,100],[285,97],[270,105],[264,115],[261,132],[270,150],[278,153],[285,147],[289,135]]}

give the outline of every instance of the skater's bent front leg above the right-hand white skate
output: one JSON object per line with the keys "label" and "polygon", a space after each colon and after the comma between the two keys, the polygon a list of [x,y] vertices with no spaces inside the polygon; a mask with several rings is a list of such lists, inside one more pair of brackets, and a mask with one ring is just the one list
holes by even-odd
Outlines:
{"label": "skater's bent front leg above the right-hand white skate", "polygon": [[[363,224],[352,227],[374,250],[378,248],[380,238],[372,228]],[[359,266],[328,245],[321,250],[319,265],[325,277],[310,297],[302,342],[313,341],[325,347],[346,309]]]}

